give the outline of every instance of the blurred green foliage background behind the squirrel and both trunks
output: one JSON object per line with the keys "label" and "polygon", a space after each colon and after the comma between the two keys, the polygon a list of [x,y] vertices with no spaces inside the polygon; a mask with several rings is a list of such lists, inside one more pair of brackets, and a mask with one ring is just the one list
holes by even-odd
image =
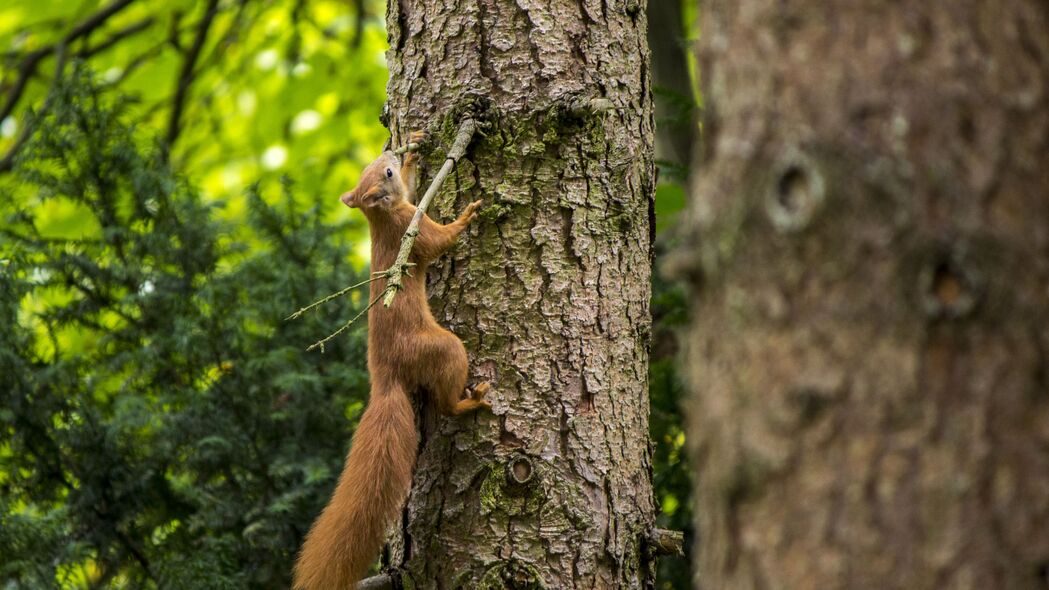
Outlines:
{"label": "blurred green foliage background behind the squirrel and both trunks", "polygon": [[[661,257],[702,100],[695,3],[650,4]],[[363,330],[302,353],[354,310],[283,318],[368,271],[337,196],[387,139],[386,49],[377,0],[0,6],[0,587],[287,587],[367,374]],[[659,524],[691,543],[655,280]]]}

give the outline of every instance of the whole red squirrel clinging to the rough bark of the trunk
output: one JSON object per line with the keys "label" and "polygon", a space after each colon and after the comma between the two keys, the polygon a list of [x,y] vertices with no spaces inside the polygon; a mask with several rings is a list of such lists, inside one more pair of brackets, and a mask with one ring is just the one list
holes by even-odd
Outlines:
{"label": "whole red squirrel clinging to the rough bark of the trunk", "polygon": [[[424,136],[412,134],[413,142]],[[371,230],[371,269],[388,269],[401,238],[415,213],[418,156],[404,164],[383,152],[361,174],[357,187],[340,199],[360,209]],[[349,455],[335,493],[311,528],[295,565],[296,590],[350,590],[382,549],[387,527],[411,487],[415,463],[415,420],[408,395],[426,389],[445,415],[481,407],[489,384],[480,383],[466,398],[467,357],[463,342],[441,328],[426,300],[426,269],[451,248],[476,215],[481,202],[467,206],[454,222],[442,226],[424,215],[409,261],[411,276],[389,308],[368,312],[368,406],[354,435]],[[385,279],[371,283],[371,299]]]}

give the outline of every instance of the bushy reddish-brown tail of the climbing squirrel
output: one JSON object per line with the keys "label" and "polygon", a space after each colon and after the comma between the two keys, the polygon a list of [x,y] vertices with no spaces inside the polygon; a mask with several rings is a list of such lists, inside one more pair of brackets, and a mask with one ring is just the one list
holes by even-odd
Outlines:
{"label": "bushy reddish-brown tail of the climbing squirrel", "polygon": [[352,590],[411,487],[415,421],[400,385],[372,388],[331,501],[295,564],[296,590]]}

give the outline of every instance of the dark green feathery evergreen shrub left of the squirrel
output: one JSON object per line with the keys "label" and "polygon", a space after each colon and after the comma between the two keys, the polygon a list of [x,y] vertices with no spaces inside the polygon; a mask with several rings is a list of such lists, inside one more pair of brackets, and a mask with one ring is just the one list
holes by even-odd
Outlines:
{"label": "dark green feathery evergreen shrub left of the squirrel", "polygon": [[[216,220],[125,101],[81,73],[55,92],[0,244],[0,576],[286,587],[366,397],[360,333],[302,352],[354,310],[282,319],[359,278],[345,228],[290,183]],[[79,223],[45,229],[56,208]]]}

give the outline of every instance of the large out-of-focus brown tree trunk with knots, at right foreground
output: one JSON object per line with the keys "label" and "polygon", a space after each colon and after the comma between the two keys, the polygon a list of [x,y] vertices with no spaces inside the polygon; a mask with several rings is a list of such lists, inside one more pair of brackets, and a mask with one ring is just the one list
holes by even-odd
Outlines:
{"label": "large out-of-focus brown tree trunk with knots, at right foreground", "polygon": [[700,585],[1045,588],[1045,2],[703,8]]}

